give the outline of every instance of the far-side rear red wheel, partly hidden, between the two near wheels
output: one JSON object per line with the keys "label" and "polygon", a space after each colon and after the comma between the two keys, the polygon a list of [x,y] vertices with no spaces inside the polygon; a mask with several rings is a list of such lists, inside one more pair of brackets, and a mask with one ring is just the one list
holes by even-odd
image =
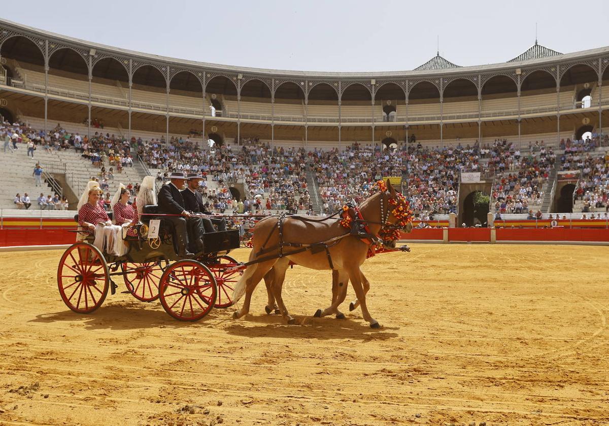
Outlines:
{"label": "far-side rear red wheel, partly hidden, between the two near wheels", "polygon": [[122,278],[129,293],[143,302],[152,302],[158,299],[158,283],[163,275],[161,262],[145,262],[121,264]]}

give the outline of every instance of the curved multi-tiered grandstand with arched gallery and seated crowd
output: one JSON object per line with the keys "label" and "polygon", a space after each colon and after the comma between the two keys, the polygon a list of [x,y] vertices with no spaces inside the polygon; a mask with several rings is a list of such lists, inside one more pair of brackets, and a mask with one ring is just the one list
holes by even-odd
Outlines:
{"label": "curved multi-tiered grandstand with arched gallery and seated crowd", "polygon": [[[230,204],[224,211],[244,200],[245,211],[329,213],[393,176],[421,220],[485,223],[487,211],[526,214],[518,202],[543,214],[604,212],[608,83],[609,47],[558,54],[536,42],[493,65],[459,67],[438,54],[413,71],[282,71],[125,51],[0,19],[0,115],[19,130],[19,149],[0,161],[10,175],[0,208],[14,207],[16,192],[38,195],[36,162],[43,192],[74,206],[88,179],[107,177],[113,150],[128,166],[118,173],[114,160],[109,192],[195,169],[210,205]],[[594,160],[570,151],[580,145]],[[558,183],[571,169],[579,180]],[[462,182],[461,173],[480,176]],[[474,220],[465,210],[476,192],[490,200]]]}

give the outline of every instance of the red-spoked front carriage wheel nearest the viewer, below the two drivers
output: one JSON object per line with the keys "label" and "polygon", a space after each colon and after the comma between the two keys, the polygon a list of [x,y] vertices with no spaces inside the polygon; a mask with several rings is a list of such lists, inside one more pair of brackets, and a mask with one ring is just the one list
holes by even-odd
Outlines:
{"label": "red-spoked front carriage wheel nearest the viewer, below the two drivers", "polygon": [[163,272],[159,284],[163,309],[180,321],[197,321],[216,303],[214,275],[196,260],[179,260]]}

